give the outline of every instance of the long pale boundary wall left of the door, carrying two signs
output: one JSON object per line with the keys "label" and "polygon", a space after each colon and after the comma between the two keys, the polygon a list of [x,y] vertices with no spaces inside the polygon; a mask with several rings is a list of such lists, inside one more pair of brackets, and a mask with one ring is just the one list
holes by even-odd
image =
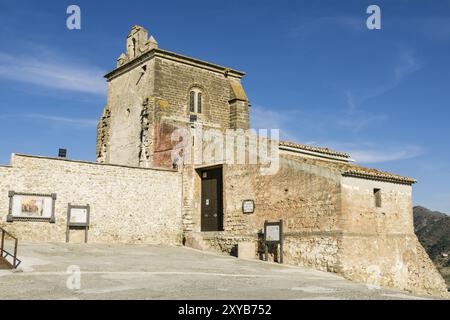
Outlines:
{"label": "long pale boundary wall left of the door, carrying two signs", "polygon": [[[56,223],[7,223],[10,190],[56,193]],[[11,167],[0,167],[0,195],[0,225],[21,241],[65,241],[72,203],[91,206],[90,242],[181,243],[177,172],[13,155]],[[73,241],[82,235],[71,231]]]}

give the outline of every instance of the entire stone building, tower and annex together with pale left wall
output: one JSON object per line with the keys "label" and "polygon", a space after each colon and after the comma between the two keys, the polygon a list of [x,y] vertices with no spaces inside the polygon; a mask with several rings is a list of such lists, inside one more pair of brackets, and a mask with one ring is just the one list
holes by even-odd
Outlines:
{"label": "entire stone building, tower and annex together with pale left wall", "polygon": [[[346,153],[278,141],[279,168],[263,173],[264,165],[250,161],[254,135],[244,132],[249,101],[243,76],[159,49],[144,28],[133,27],[126,53],[106,75],[99,164],[14,156],[11,167],[0,167],[0,191],[57,193],[57,222],[14,222],[8,230],[21,239],[63,241],[67,203],[89,203],[92,241],[184,243],[232,255],[246,243],[246,256],[254,243],[256,258],[264,221],[283,219],[286,263],[372,285],[443,293],[445,283],[413,232],[415,180],[353,165]],[[230,163],[223,147],[212,148],[216,140],[196,135],[199,128],[237,130],[246,161]],[[216,157],[188,161],[197,149]],[[210,199],[203,199],[202,174],[210,168],[220,168],[223,212],[216,212],[220,228],[205,232],[202,210]],[[243,213],[244,200],[254,201],[254,213]],[[5,224],[7,198],[0,209]],[[278,253],[271,254],[277,260]]]}

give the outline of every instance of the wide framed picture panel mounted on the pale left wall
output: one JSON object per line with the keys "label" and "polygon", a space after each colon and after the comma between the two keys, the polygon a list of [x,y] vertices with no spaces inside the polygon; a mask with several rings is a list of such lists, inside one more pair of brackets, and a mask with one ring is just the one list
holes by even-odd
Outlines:
{"label": "wide framed picture panel mounted on the pale left wall", "polygon": [[42,221],[55,223],[56,194],[9,191],[7,222]]}

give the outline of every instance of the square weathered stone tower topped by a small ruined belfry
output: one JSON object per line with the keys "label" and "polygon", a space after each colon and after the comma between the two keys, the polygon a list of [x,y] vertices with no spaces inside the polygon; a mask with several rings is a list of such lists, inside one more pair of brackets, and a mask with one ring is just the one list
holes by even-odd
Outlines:
{"label": "square weathered stone tower topped by a small ruined belfry", "polygon": [[201,124],[248,129],[244,73],[158,48],[134,26],[126,53],[105,77],[108,99],[98,125],[97,160],[141,167],[172,167],[177,128]]}

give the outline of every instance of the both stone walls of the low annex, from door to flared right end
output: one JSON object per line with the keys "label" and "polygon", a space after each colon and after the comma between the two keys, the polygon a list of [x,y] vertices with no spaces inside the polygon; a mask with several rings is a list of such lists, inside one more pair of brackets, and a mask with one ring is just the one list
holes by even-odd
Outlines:
{"label": "both stone walls of the low annex, from door to flared right end", "polygon": [[[195,171],[186,172],[184,184],[191,188],[190,194],[185,191],[187,245],[236,255],[239,242],[252,242],[255,258],[262,258],[264,221],[283,219],[287,264],[336,272],[374,286],[428,294],[446,291],[414,235],[410,185],[343,177],[341,165],[332,161],[290,155],[280,161],[275,175],[262,175],[257,165],[223,166],[222,232],[200,232],[201,180]],[[381,208],[375,205],[374,189],[381,189]],[[251,215],[242,212],[246,199],[255,201]],[[276,260],[277,252],[270,253]]]}

